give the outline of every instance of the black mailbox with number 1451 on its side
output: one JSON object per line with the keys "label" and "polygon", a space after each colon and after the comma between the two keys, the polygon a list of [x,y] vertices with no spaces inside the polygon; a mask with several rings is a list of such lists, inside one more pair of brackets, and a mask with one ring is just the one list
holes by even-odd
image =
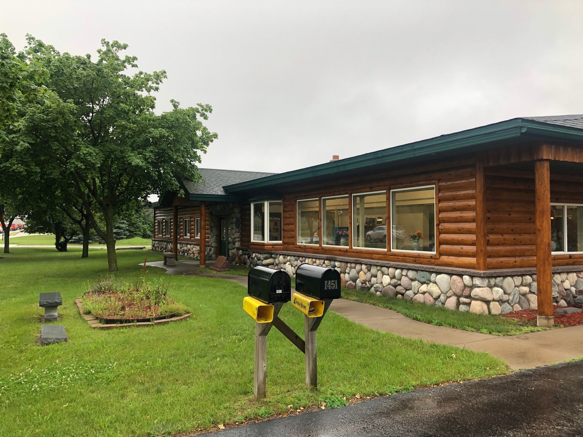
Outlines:
{"label": "black mailbox with number 1451 on its side", "polygon": [[314,299],[340,298],[340,273],[335,269],[302,264],[296,270],[296,291]]}

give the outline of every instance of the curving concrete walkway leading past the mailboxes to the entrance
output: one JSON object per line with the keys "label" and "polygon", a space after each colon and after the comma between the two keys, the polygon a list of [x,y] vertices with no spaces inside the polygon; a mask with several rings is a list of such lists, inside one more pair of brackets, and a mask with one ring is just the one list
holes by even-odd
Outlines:
{"label": "curving concrete walkway leading past the mailboxes to the entrance", "polygon": [[[216,277],[247,287],[245,276],[199,273],[198,261],[194,260],[178,261],[176,266],[164,266],[161,261],[147,263],[147,265],[163,267],[169,274]],[[583,326],[498,337],[445,326],[434,326],[409,319],[391,309],[346,299],[333,301],[330,310],[353,322],[381,332],[484,351],[501,358],[515,370],[583,357]]]}

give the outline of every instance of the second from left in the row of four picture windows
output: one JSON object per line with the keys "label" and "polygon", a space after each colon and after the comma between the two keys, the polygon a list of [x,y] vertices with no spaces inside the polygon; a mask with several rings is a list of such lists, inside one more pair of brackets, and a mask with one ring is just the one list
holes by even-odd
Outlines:
{"label": "second from left in the row of four picture windows", "polygon": [[322,199],[322,244],[348,246],[348,196]]}

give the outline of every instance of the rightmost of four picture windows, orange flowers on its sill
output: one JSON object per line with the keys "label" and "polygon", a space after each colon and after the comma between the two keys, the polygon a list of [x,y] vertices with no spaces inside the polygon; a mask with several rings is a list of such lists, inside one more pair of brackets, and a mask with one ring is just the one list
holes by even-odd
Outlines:
{"label": "rightmost of four picture windows, orange flowers on its sill", "polygon": [[391,190],[391,249],[435,253],[435,186]]}

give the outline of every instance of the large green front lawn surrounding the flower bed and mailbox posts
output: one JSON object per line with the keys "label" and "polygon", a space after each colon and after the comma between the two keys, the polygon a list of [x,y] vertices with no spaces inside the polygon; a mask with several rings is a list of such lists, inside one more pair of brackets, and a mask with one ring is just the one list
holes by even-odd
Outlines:
{"label": "large green front lawn surrounding the flower bed and mailbox posts", "polygon": [[[191,318],[96,330],[79,315],[75,298],[88,283],[107,276],[105,251],[92,251],[87,259],[80,258],[80,248],[10,252],[0,259],[2,435],[169,435],[266,417],[290,404],[307,407],[338,396],[508,372],[486,353],[376,332],[330,312],[318,330],[319,390],[305,389],[303,355],[273,329],[268,396],[254,401],[254,323],[241,308],[245,287],[149,267],[147,279],[170,281],[169,294],[194,309]],[[146,254],[150,261],[161,260],[160,253],[146,250],[118,252],[116,280],[138,280]],[[48,291],[61,292],[59,323],[69,342],[39,347],[38,293]],[[280,315],[303,332],[300,312],[285,305]]]}

